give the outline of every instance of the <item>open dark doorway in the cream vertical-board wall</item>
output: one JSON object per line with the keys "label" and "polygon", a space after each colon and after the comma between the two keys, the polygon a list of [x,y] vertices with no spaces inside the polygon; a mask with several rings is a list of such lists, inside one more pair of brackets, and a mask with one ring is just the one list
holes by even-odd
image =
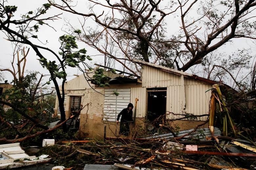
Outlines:
{"label": "open dark doorway in the cream vertical-board wall", "polygon": [[166,112],[166,88],[147,89],[147,119],[154,121]]}

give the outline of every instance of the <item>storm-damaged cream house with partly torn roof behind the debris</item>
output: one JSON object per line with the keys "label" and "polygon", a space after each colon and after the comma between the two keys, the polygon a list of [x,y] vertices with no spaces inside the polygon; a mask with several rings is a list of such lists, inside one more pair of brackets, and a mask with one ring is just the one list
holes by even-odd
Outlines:
{"label": "storm-damaged cream house with partly torn roof behind the debris", "polygon": [[[97,87],[90,81],[87,82],[83,74],[65,83],[66,117],[73,110],[80,109],[81,105],[89,104],[89,107],[81,111],[81,136],[103,137],[105,125],[106,136],[115,136],[116,129],[119,131],[119,125],[116,125],[117,115],[128,103],[133,103],[134,106],[137,103],[137,107],[133,109],[133,117],[140,124],[145,119],[152,121],[166,113],[169,113],[166,119],[179,118],[179,114],[184,113],[209,113],[209,89],[216,84],[215,81],[140,60],[134,61],[141,65],[141,77],[131,78],[131,75],[121,75],[121,71],[120,74],[106,71],[104,74],[110,78],[110,87]],[[119,95],[116,96],[113,92],[118,92]],[[55,110],[57,114],[57,99]],[[174,124],[180,130],[189,129],[206,119],[207,116],[202,116],[198,121],[177,120]]]}

